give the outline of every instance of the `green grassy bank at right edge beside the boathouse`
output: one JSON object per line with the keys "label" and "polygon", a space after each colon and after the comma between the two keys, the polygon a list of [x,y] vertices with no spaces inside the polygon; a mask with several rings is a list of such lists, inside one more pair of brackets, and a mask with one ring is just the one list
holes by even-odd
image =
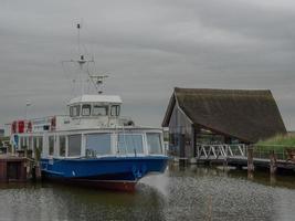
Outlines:
{"label": "green grassy bank at right edge beside the boathouse", "polygon": [[295,135],[276,135],[266,140],[260,140],[255,144],[255,148],[263,151],[275,150],[284,151],[286,148],[295,149]]}

